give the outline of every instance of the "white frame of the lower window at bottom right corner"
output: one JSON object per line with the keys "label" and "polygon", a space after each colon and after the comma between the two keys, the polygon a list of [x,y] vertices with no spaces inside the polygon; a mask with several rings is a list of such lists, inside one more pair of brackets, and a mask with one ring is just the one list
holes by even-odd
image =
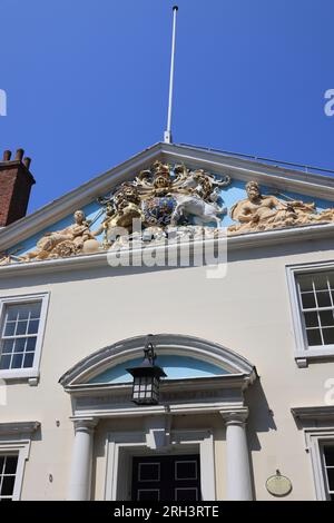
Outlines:
{"label": "white frame of the lower window at bottom right corner", "polygon": [[305,430],[305,437],[311,454],[316,499],[327,501],[327,477],[324,467],[323,446],[326,444],[334,445],[334,428]]}

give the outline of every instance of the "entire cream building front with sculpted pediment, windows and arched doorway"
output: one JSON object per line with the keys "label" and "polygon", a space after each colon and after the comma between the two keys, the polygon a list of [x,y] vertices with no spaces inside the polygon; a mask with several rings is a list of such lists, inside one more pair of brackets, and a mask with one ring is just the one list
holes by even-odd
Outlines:
{"label": "entire cream building front with sculpted pediment, windows and arched doorway", "polygon": [[333,178],[156,144],[33,182],[6,151],[0,499],[334,499]]}

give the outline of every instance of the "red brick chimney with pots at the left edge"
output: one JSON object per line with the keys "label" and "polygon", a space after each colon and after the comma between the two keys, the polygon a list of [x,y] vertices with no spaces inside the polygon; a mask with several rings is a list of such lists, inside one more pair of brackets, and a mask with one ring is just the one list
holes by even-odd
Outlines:
{"label": "red brick chimney with pots at the left edge", "polygon": [[0,227],[23,218],[27,213],[35,179],[29,170],[31,160],[23,156],[23,149],[18,149],[11,160],[11,151],[6,150],[0,160]]}

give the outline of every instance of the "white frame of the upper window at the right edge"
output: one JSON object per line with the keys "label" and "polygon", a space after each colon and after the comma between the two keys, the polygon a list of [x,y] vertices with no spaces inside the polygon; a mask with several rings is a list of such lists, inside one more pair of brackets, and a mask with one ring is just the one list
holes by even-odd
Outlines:
{"label": "white frame of the upper window at the right edge", "polygon": [[295,335],[295,361],[298,367],[307,367],[312,359],[334,359],[334,346],[324,348],[308,347],[306,330],[304,328],[304,317],[302,312],[301,297],[297,289],[296,276],[307,273],[326,273],[334,270],[334,260],[325,263],[287,265],[286,276],[291,298],[292,322]]}

